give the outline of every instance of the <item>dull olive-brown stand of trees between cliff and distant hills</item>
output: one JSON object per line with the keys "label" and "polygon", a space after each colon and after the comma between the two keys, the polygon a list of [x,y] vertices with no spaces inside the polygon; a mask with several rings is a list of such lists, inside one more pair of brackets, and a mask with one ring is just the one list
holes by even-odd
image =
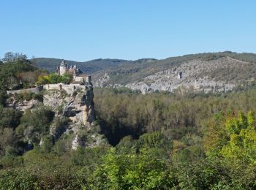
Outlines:
{"label": "dull olive-brown stand of trees between cliff and distant hills", "polygon": [[172,140],[187,133],[200,134],[212,115],[232,108],[256,111],[256,91],[242,94],[115,94],[112,89],[94,89],[95,110],[110,143],[126,135],[138,138],[145,132],[167,131]]}

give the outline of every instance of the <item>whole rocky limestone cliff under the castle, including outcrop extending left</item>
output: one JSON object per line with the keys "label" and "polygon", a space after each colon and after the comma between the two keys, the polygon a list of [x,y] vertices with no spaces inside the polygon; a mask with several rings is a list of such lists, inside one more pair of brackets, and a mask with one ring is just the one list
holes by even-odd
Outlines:
{"label": "whole rocky limestone cliff under the castle, including outcrop extending left", "polygon": [[[68,91],[64,88],[55,88],[60,85],[49,85],[50,90],[41,92],[41,101],[18,99],[22,94],[14,94],[7,100],[7,106],[23,112],[27,109],[33,112],[34,108],[41,106],[50,107],[55,118],[49,126],[48,135],[54,142],[61,139],[62,135],[67,135],[69,137],[66,143],[67,149],[76,149],[79,145],[86,147],[107,145],[105,136],[99,134],[99,126],[94,124],[94,91],[91,83],[85,86],[77,85],[75,88],[74,85],[66,85]],[[24,139],[30,143],[32,141],[26,131],[24,130]],[[42,136],[40,145],[44,145],[44,139],[45,136]]]}

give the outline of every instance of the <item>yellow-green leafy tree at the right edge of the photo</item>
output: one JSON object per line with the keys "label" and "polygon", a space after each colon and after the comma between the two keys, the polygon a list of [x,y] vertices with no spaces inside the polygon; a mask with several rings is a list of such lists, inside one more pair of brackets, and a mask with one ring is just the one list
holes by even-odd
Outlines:
{"label": "yellow-green leafy tree at the right edge of the photo", "polygon": [[[230,178],[246,189],[255,189],[256,129],[254,113],[226,115],[219,128],[213,128],[215,139],[208,136],[208,157],[219,159],[227,168]],[[217,131],[216,131],[217,130]],[[217,134],[217,135],[216,135]],[[225,138],[223,138],[225,137]],[[213,143],[211,143],[213,141]],[[216,143],[217,142],[217,143]],[[218,143],[219,142],[219,143]]]}

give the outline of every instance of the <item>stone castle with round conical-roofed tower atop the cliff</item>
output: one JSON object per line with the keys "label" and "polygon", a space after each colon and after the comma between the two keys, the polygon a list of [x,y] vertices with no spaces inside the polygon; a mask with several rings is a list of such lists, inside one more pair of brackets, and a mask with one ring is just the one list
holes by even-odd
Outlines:
{"label": "stone castle with round conical-roofed tower atop the cliff", "polygon": [[83,74],[81,69],[77,68],[76,65],[71,65],[69,67],[65,60],[61,61],[60,66],[58,66],[56,69],[56,73],[61,76],[63,76],[66,73],[73,75],[73,83],[91,83],[90,75]]}

